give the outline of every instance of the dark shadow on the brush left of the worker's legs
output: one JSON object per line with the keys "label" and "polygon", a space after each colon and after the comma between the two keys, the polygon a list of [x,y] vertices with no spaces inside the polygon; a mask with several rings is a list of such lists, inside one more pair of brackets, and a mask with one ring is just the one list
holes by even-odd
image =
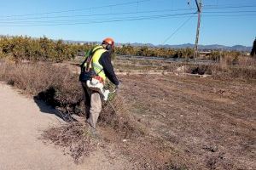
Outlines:
{"label": "dark shadow on the brush left of the worker's legs", "polygon": [[45,91],[40,92],[37,96],[34,96],[33,99],[38,105],[42,113],[54,114],[55,116],[60,117],[65,122],[78,122],[70,114],[64,113],[56,108],[61,106],[61,103],[55,99],[55,88],[48,88]]}

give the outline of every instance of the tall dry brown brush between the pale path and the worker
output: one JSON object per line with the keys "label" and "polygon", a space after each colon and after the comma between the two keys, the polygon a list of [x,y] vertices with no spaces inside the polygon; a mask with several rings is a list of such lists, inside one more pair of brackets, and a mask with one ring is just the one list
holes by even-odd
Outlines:
{"label": "tall dry brown brush between the pale path and the worker", "polygon": [[26,94],[43,99],[49,105],[60,107],[64,113],[78,113],[82,90],[77,75],[65,66],[51,63],[14,64],[2,62],[0,79],[20,88]]}

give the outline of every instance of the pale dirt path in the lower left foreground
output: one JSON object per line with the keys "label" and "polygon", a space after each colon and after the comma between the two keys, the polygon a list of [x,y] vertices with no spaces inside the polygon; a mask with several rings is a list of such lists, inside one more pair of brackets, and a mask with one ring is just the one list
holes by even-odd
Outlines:
{"label": "pale dirt path in the lower left foreground", "polygon": [[[44,109],[44,112],[42,112]],[[41,132],[61,122],[46,105],[40,108],[33,99],[0,82],[0,169],[128,169],[127,162],[109,160],[101,150],[76,165],[59,148],[44,144]]]}

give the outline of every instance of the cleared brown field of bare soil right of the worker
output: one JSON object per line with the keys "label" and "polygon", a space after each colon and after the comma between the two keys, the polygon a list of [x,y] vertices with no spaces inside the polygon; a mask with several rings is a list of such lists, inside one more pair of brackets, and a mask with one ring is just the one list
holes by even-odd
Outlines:
{"label": "cleared brown field of bare soil right of the worker", "polygon": [[133,164],[141,169],[256,169],[255,80],[119,78],[119,93],[146,135],[120,137],[125,142],[113,139],[114,134],[107,138]]}

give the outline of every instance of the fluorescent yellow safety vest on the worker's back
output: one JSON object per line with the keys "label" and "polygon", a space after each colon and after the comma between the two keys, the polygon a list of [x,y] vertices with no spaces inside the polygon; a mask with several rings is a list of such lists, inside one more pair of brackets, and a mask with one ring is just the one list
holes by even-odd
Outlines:
{"label": "fluorescent yellow safety vest on the worker's back", "polygon": [[[106,80],[106,75],[105,72],[103,71],[103,66],[99,63],[99,60],[102,56],[103,53],[105,53],[107,49],[103,48],[102,46],[96,46],[95,48],[92,49],[91,53],[94,53],[92,56],[92,61],[90,65],[90,68],[92,67],[93,70],[96,72],[96,75],[99,77],[102,77],[102,79],[105,81]],[[84,64],[86,67],[86,63]]]}

